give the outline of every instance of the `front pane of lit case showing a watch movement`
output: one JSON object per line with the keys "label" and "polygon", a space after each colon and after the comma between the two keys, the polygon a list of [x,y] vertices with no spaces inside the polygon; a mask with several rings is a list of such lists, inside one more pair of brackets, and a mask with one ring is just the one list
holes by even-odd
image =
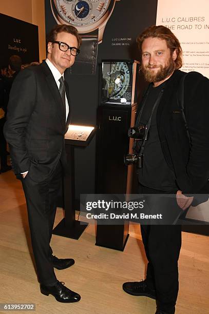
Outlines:
{"label": "front pane of lit case showing a watch movement", "polygon": [[[131,100],[132,64],[126,62],[103,62],[102,99],[104,102]],[[124,102],[125,103],[125,102]]]}

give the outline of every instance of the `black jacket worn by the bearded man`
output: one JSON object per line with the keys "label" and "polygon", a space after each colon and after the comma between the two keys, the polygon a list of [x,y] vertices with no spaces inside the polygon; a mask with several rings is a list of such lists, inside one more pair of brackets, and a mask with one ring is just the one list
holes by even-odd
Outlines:
{"label": "black jacket worn by the bearded man", "polygon": [[167,81],[157,110],[157,127],[168,166],[174,170],[183,193],[209,192],[209,80],[198,72],[189,73],[184,81],[185,116],[191,137],[187,136],[177,102],[181,77],[176,70]]}

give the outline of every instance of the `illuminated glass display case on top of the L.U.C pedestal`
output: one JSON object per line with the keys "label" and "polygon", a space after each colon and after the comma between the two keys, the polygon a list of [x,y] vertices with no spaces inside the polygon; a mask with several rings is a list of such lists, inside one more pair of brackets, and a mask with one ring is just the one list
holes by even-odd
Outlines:
{"label": "illuminated glass display case on top of the L.U.C pedestal", "polygon": [[136,103],[138,72],[138,61],[102,61],[102,104]]}

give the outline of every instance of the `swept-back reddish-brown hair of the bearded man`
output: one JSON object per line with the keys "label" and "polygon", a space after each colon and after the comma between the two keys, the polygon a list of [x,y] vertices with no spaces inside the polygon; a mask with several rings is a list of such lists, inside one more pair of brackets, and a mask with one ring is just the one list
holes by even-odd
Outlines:
{"label": "swept-back reddish-brown hair of the bearded man", "polygon": [[170,53],[173,54],[176,49],[177,58],[175,60],[175,68],[180,69],[182,67],[182,49],[178,38],[172,33],[172,31],[162,25],[150,26],[146,28],[138,37],[137,43],[139,46],[140,53],[142,53],[142,44],[146,38],[149,37],[157,37],[161,40],[165,40],[167,43],[167,47],[170,49]]}

